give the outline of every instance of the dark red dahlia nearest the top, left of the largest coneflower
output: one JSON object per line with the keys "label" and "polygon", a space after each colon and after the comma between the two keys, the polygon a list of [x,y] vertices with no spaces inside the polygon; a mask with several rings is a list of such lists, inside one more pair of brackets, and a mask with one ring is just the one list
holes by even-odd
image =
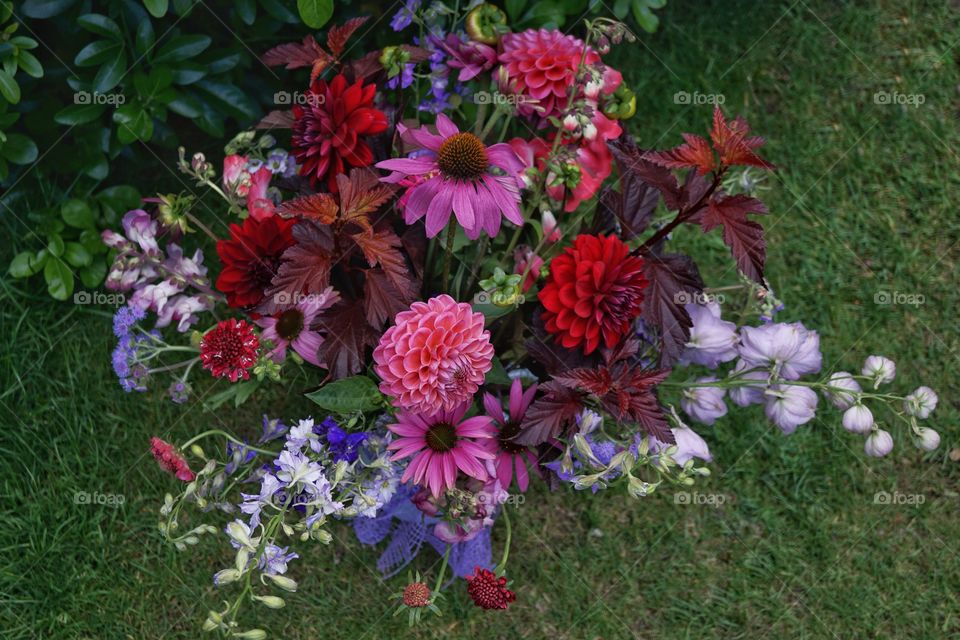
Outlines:
{"label": "dark red dahlia nearest the top, left of the largest coneflower", "polygon": [[373,153],[362,139],[387,130],[387,116],[373,107],[377,88],[357,80],[347,85],[343,74],[329,84],[318,80],[310,87],[304,105],[293,107],[293,155],[300,163],[300,175],[314,187],[326,181],[337,191],[336,176],[349,167],[366,167]]}

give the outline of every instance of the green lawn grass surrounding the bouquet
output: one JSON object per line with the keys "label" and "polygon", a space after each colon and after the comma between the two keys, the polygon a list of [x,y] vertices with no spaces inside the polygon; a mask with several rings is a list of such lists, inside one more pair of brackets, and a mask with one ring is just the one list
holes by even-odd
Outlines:
{"label": "green lawn grass surrounding the bouquet", "polygon": [[[960,635],[960,470],[947,456],[960,444],[960,28],[948,5],[673,0],[661,31],[618,60],[639,96],[631,127],[643,144],[706,130],[709,108],[674,104],[681,90],[724,94],[725,109],[769,139],[765,155],[781,166],[765,199],[782,317],[821,332],[831,368],[884,353],[898,362],[898,388],[937,389],[938,452],[923,456],[898,434],[893,455],[867,460],[836,412],[785,438],[758,411],[732,411],[706,430],[716,465],[698,488],[726,496],[721,507],[534,489],[513,518],[509,612],[454,594],[442,619],[407,632],[387,615],[396,585],[373,573],[377,552],[341,529],[296,563],[301,590],[287,609],[257,623],[288,639]],[[874,103],[894,89],[925,103]],[[26,234],[4,219],[12,237]],[[709,284],[733,282],[723,246],[694,234],[677,243],[696,250]],[[5,243],[5,257],[20,244]],[[877,305],[880,290],[925,304]],[[125,395],[110,372],[109,312],[51,303],[34,281],[0,289],[4,638],[197,638],[218,601],[210,575],[230,556],[209,540],[189,554],[161,543],[156,509],[170,481],[146,440],[221,422],[250,433],[264,411],[304,410],[257,398],[212,414]],[[925,502],[876,505],[880,490]],[[78,491],[125,502],[78,505]]]}

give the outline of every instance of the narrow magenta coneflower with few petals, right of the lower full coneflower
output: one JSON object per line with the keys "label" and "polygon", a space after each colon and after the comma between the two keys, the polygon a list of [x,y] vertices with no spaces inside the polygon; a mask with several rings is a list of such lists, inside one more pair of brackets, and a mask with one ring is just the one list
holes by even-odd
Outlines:
{"label": "narrow magenta coneflower with few petals, right of the lower full coneflower", "polygon": [[513,481],[513,470],[516,467],[517,486],[520,487],[520,491],[527,490],[530,475],[527,473],[527,464],[524,462],[524,458],[527,459],[534,470],[537,469],[537,458],[533,452],[513,441],[513,437],[520,433],[520,423],[523,422],[523,416],[530,403],[533,402],[533,396],[536,392],[537,385],[533,385],[524,391],[520,381],[514,380],[513,384],[510,385],[509,415],[504,415],[503,408],[497,398],[489,393],[483,394],[483,407],[498,427],[496,436],[490,442],[497,456],[493,461],[496,477],[505,489],[509,489],[510,483]]}

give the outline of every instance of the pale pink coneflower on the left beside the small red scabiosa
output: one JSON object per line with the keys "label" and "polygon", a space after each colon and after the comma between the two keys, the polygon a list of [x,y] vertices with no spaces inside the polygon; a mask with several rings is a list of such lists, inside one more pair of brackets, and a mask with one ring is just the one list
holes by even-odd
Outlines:
{"label": "pale pink coneflower on the left beside the small red scabiosa", "polygon": [[323,293],[303,296],[292,309],[254,320],[263,329],[262,337],[276,345],[270,351],[270,357],[276,362],[283,362],[287,357],[287,347],[293,347],[301,358],[315,367],[322,367],[317,350],[323,343],[323,337],[310,326],[317,315],[339,297],[333,287],[327,287]]}

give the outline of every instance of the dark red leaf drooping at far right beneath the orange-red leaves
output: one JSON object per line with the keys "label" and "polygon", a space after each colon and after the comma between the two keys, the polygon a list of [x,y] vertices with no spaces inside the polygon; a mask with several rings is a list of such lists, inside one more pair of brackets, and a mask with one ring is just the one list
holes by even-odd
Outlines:
{"label": "dark red leaf drooping at far right beneath the orange-red leaves", "polygon": [[710,199],[700,223],[704,232],[723,226],[723,241],[737,261],[737,268],[748,278],[763,284],[766,243],[763,227],[747,219],[748,213],[767,213],[767,206],[743,194],[716,195]]}

